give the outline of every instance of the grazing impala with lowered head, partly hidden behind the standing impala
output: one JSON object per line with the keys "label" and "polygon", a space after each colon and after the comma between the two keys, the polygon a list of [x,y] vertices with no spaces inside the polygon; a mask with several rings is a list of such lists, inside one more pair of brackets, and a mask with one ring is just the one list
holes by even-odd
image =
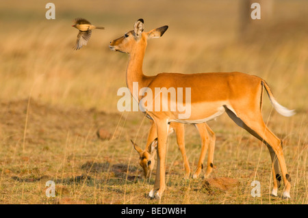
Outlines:
{"label": "grazing impala with lowered head, partly hidden behind the standing impala", "polygon": [[[198,176],[200,175],[203,169],[203,160],[205,158],[205,154],[207,152],[207,149],[209,149],[209,154],[207,156],[207,171],[205,173],[205,178],[206,178],[207,176],[209,176],[209,174],[211,174],[211,171],[214,167],[213,159],[214,159],[214,148],[215,148],[215,138],[216,137],[215,137],[215,133],[211,131],[211,128],[209,128],[209,126],[207,126],[206,123],[196,124],[195,126],[198,129],[200,136],[201,136],[201,154],[198,160],[198,165],[196,167],[196,170],[194,171],[194,174],[192,175],[192,178],[198,178]],[[184,124],[177,123],[177,122],[170,123],[168,135],[173,133],[173,131],[175,131],[175,134],[177,135],[177,144],[179,146],[179,149],[183,157],[185,178],[189,178],[190,177],[190,164],[188,162],[188,158],[185,152]],[[148,136],[148,141],[150,141],[150,143],[146,144],[146,148],[144,150],[142,150],[137,144],[131,141],[131,143],[133,144],[133,148],[135,148],[135,150],[139,154],[139,164],[143,169],[145,178],[150,177],[154,164],[155,164],[155,154],[157,151],[157,138],[155,137],[156,137],[156,128],[155,128],[155,124],[152,121],[151,131]]]}

